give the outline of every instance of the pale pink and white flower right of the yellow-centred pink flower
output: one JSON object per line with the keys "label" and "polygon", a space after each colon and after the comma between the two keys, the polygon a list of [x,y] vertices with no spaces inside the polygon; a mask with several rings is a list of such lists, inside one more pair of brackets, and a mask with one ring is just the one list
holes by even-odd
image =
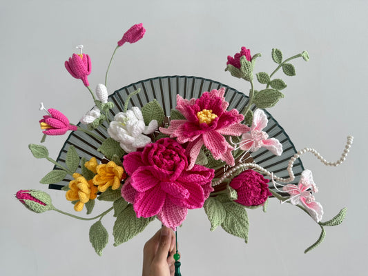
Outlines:
{"label": "pale pink and white flower right of the yellow-centred pink flower", "polygon": [[253,115],[253,122],[249,133],[242,135],[240,148],[242,150],[249,150],[254,152],[262,148],[267,148],[274,155],[282,154],[282,144],[275,138],[269,138],[269,135],[262,131],[267,126],[269,120],[263,110],[255,110]]}

